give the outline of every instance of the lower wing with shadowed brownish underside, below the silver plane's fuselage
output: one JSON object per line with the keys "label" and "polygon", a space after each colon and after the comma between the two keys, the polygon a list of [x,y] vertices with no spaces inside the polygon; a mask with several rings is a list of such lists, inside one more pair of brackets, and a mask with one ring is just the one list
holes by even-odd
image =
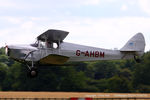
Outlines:
{"label": "lower wing with shadowed brownish underside, below the silver plane's fuselage", "polygon": [[40,59],[40,64],[54,64],[54,65],[62,65],[67,62],[69,57],[61,56],[56,54],[50,54],[42,59]]}

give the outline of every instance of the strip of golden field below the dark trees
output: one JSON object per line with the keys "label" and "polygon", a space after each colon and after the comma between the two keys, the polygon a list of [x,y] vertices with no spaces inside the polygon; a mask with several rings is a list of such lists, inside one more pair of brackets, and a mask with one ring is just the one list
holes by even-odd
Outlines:
{"label": "strip of golden field below the dark trees", "polygon": [[86,92],[0,92],[0,98],[150,98],[139,93],[86,93]]}

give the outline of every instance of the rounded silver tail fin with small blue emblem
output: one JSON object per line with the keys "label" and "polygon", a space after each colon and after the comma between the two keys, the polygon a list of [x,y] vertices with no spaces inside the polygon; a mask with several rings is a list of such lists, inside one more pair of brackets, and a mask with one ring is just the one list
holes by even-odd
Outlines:
{"label": "rounded silver tail fin with small blue emblem", "polygon": [[145,50],[145,39],[142,33],[137,33],[133,36],[123,48],[120,49],[121,52],[136,52],[143,54]]}

